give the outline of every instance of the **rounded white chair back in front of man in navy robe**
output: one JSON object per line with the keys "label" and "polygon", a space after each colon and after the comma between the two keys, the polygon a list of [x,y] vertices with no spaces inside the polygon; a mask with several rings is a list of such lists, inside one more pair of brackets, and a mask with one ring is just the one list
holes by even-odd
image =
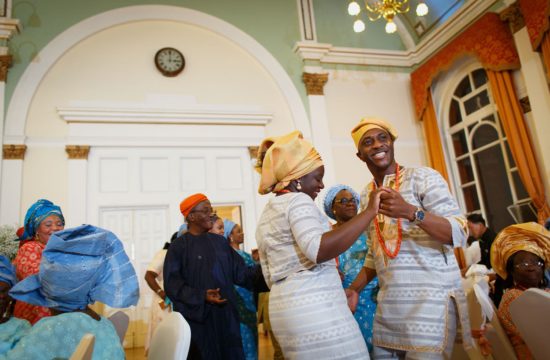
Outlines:
{"label": "rounded white chair back in front of man in navy robe", "polygon": [[176,311],[161,321],[149,346],[149,360],[187,359],[191,344],[191,328],[183,316]]}

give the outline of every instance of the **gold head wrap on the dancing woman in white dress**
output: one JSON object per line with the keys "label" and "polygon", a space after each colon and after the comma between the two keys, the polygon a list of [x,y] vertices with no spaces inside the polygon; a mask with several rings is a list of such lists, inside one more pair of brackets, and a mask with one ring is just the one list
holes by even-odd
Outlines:
{"label": "gold head wrap on the dancing woman in white dress", "polygon": [[[262,155],[262,150],[265,150]],[[263,156],[263,157],[262,157]],[[300,131],[277,138],[267,138],[258,149],[256,168],[260,171],[260,194],[277,192],[295,179],[323,166],[321,156]]]}

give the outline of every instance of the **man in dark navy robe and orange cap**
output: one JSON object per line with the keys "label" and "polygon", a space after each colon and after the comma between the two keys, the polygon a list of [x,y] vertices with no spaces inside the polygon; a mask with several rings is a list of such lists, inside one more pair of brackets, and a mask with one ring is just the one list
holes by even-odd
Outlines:
{"label": "man in dark navy robe and orange cap", "polygon": [[208,232],[212,205],[203,194],[183,200],[188,231],[172,242],[164,284],[174,311],[191,327],[188,359],[244,359],[233,284],[252,289],[259,267],[247,267],[221,235]]}

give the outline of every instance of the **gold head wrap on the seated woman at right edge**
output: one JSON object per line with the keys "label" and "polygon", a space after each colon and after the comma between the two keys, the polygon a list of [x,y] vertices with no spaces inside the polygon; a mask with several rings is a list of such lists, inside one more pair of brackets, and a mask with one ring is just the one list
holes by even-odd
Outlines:
{"label": "gold head wrap on the seated woman at right edge", "polygon": [[506,263],[518,251],[533,253],[548,265],[550,231],[535,222],[510,225],[498,233],[491,246],[491,265],[503,279],[508,277]]}

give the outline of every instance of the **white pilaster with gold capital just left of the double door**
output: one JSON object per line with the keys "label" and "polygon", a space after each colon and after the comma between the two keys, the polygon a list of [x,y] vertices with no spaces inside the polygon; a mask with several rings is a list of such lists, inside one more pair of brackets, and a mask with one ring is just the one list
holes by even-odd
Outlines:
{"label": "white pilaster with gold capital just left of the double door", "polygon": [[67,145],[68,160],[68,209],[66,227],[85,224],[87,218],[88,154],[89,146]]}

